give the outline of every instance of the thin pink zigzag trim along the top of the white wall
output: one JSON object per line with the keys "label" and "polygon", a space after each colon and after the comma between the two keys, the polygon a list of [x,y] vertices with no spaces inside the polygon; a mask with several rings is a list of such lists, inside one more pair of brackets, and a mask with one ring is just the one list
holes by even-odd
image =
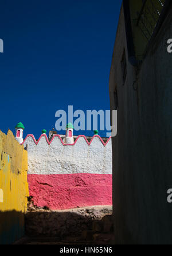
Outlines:
{"label": "thin pink zigzag trim along the top of the white wall", "polygon": [[60,138],[60,141],[61,141],[62,145],[64,145],[64,146],[73,146],[73,145],[75,145],[76,142],[77,142],[77,140],[79,140],[80,137],[83,137],[83,138],[85,139],[85,141],[87,142],[88,146],[91,145],[91,142],[93,141],[93,138],[95,138],[95,137],[99,138],[100,141],[102,142],[102,144],[103,144],[104,146],[106,146],[106,145],[108,144],[108,142],[111,140],[111,137],[110,137],[110,138],[108,138],[107,142],[104,143],[104,141],[102,140],[102,138],[101,138],[99,135],[94,135],[94,136],[92,137],[91,141],[88,142],[88,140],[87,140],[87,138],[85,137],[85,135],[79,135],[79,136],[77,137],[76,141],[75,141],[73,144],[64,144],[64,142],[62,141],[60,135],[58,135],[58,134],[54,135],[51,141],[48,140],[48,137],[47,137],[46,134],[42,134],[38,141],[36,141],[36,139],[34,138],[34,135],[33,135],[33,134],[28,134],[22,144],[25,143],[25,141],[26,141],[26,139],[27,139],[28,137],[32,137],[32,138],[33,138],[33,141],[34,141],[34,143],[35,143],[36,145],[38,145],[38,143],[40,142],[40,140],[41,140],[42,137],[45,137],[45,138],[46,138],[46,141],[47,141],[48,145],[50,145],[50,144],[52,143],[52,141],[54,140],[55,137],[58,137],[58,138]]}

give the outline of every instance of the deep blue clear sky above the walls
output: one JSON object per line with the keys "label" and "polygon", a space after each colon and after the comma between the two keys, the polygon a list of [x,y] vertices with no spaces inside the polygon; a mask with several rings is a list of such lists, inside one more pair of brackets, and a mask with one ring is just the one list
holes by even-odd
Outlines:
{"label": "deep blue clear sky above the walls", "polygon": [[3,132],[14,132],[23,122],[24,136],[38,138],[42,129],[55,127],[55,112],[68,105],[84,111],[110,109],[108,81],[121,3],[1,0]]}

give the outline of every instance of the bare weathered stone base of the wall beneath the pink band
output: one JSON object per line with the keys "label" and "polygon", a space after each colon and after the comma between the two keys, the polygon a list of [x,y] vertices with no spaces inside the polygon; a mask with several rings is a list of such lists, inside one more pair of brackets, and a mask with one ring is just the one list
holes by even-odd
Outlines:
{"label": "bare weathered stone base of the wall beneath the pink band", "polygon": [[[26,214],[26,234],[31,239],[53,237],[58,242],[63,239],[68,242],[72,239],[72,242],[75,242],[74,239],[83,239],[81,237],[83,232],[93,231],[92,226],[95,221],[99,222],[104,216],[110,214],[112,214],[112,206],[58,211],[36,210]],[[91,240],[91,236],[89,240]]]}

